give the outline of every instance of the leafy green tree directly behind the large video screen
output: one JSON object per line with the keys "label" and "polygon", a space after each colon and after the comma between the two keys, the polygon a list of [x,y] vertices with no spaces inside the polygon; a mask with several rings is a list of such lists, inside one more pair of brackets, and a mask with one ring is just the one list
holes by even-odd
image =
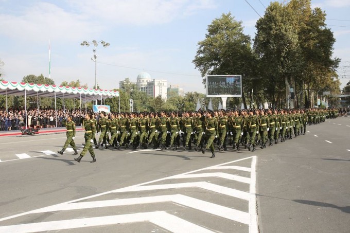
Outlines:
{"label": "leafy green tree directly behind the large video screen", "polygon": [[[208,75],[256,75],[256,57],[251,49],[249,35],[243,33],[242,22],[234,19],[231,13],[222,14],[208,25],[205,39],[198,42],[193,60],[202,76]],[[203,79],[203,84],[205,84]],[[242,100],[246,99],[243,88]]]}

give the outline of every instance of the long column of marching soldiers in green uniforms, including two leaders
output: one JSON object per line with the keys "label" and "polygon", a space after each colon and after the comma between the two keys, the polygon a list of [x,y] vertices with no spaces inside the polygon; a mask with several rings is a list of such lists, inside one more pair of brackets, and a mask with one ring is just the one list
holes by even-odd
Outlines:
{"label": "long column of marching soldiers in green uniforms, including two leaders", "polygon": [[[96,162],[92,144],[95,149],[104,146],[105,149],[152,149],[206,150],[215,157],[215,145],[220,151],[228,150],[228,145],[235,151],[241,147],[255,151],[257,146],[265,149],[273,144],[284,142],[293,137],[305,134],[307,124],[318,124],[326,118],[337,117],[337,110],[323,109],[249,109],[202,111],[197,112],[141,112],[141,113],[99,113],[96,119],[93,114],[85,114],[83,129],[85,129],[84,149],[77,162],[89,151]],[[62,150],[68,145],[77,154],[74,137],[75,124],[71,117],[65,122],[67,140]],[[95,134],[99,135],[98,140]],[[111,137],[109,137],[111,135]]]}

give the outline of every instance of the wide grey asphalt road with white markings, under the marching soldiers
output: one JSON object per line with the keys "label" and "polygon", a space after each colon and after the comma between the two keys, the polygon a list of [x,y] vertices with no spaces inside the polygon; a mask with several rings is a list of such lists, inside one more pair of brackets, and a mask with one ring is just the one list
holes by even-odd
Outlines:
{"label": "wide grey asphalt road with white markings, under the marching soldiers", "polygon": [[0,232],[348,232],[350,117],[307,130],[214,159],[98,149],[94,164],[57,154],[64,134],[2,137]]}

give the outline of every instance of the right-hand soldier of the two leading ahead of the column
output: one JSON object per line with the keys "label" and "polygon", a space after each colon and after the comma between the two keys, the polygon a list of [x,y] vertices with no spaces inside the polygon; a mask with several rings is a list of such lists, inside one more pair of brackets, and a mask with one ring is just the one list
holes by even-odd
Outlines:
{"label": "right-hand soldier of the two leading ahead of the column", "polygon": [[91,157],[93,160],[90,163],[95,163],[96,162],[96,157],[94,153],[94,149],[92,148],[92,143],[94,140],[92,139],[93,133],[96,131],[95,123],[91,118],[93,117],[92,113],[86,113],[85,114],[85,119],[84,119],[84,130],[85,130],[85,145],[83,148],[83,151],[80,153],[78,158],[74,158],[78,163],[80,163],[81,158],[86,154],[86,152],[89,150]]}

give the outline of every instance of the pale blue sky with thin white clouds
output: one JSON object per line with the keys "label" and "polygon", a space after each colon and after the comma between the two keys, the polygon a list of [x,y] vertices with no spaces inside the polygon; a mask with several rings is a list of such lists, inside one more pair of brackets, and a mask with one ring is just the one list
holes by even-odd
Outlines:
{"label": "pale blue sky with thin white clouds", "polygon": [[[261,15],[268,0],[247,0]],[[264,7],[265,6],[265,7]],[[56,84],[79,79],[93,87],[93,46],[82,41],[104,40],[97,47],[97,82],[103,89],[146,71],[152,79],[185,92],[205,93],[202,77],[192,60],[207,26],[222,13],[242,21],[244,33],[254,38],[259,15],[245,0],[0,0],[0,60],[7,81],[26,75],[48,77],[48,41],[51,78]],[[337,40],[334,56],[350,65],[350,0],[317,0],[312,7],[327,13],[327,25]],[[350,73],[350,71],[349,71]],[[342,87],[349,79],[341,79]]]}

